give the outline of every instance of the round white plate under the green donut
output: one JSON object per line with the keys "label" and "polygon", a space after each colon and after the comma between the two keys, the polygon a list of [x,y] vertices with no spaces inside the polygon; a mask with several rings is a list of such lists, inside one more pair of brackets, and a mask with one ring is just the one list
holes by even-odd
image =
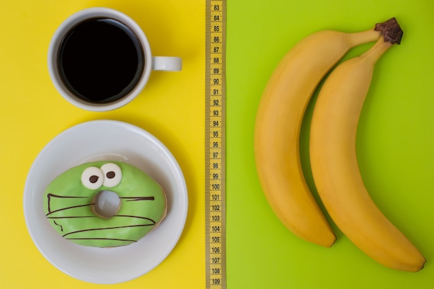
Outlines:
{"label": "round white plate under the green donut", "polygon": [[[163,186],[166,218],[139,242],[124,247],[84,247],[65,240],[44,215],[46,186],[68,168],[110,159],[141,168]],[[119,121],[89,121],[59,134],[35,159],[24,188],[24,216],[37,248],[55,267],[92,283],[128,281],[164,261],[182,234],[187,207],[185,179],[171,152],[145,130]]]}

